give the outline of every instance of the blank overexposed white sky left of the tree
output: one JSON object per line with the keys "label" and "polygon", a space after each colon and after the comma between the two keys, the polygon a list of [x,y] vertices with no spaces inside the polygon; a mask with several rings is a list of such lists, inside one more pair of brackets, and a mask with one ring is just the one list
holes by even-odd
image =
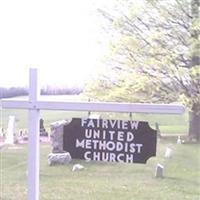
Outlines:
{"label": "blank overexposed white sky left of the tree", "polygon": [[0,0],[0,87],[79,85],[101,54],[91,0]]}

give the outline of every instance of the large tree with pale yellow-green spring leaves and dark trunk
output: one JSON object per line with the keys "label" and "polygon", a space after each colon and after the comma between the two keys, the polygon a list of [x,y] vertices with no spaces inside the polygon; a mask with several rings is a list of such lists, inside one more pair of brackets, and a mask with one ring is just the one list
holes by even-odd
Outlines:
{"label": "large tree with pale yellow-green spring leaves and dark trunk", "polygon": [[190,110],[189,137],[200,140],[200,1],[116,3],[114,11],[99,9],[111,27],[112,53],[107,72],[86,93],[104,100],[181,101]]}

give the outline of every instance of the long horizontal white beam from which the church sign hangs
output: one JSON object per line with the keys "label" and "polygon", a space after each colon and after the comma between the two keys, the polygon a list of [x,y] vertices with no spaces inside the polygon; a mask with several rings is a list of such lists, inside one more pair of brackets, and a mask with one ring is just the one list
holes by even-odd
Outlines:
{"label": "long horizontal white beam from which the church sign hangs", "polygon": [[2,100],[1,105],[3,108],[93,112],[183,114],[185,111],[184,106],[179,104]]}

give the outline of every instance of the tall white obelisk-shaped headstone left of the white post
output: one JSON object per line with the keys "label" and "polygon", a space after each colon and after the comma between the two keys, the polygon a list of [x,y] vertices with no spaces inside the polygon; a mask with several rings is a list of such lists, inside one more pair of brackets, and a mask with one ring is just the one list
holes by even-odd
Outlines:
{"label": "tall white obelisk-shaped headstone left of the white post", "polygon": [[15,116],[9,116],[7,136],[6,136],[5,143],[6,144],[14,144],[15,140],[16,140],[16,138],[15,138]]}

